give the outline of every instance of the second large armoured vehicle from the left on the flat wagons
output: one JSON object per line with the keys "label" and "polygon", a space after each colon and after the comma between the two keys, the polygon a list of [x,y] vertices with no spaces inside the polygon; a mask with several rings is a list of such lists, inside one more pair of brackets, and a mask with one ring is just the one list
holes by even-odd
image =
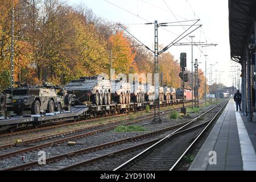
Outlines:
{"label": "second large armoured vehicle from the left on the flat wagons", "polygon": [[131,102],[131,84],[122,80],[111,81],[112,100],[118,104]]}

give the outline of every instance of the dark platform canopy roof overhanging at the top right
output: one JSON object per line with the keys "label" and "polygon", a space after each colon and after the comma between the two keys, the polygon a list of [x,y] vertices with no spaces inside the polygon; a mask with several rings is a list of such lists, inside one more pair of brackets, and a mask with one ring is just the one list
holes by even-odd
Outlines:
{"label": "dark platform canopy roof overhanging at the top right", "polygon": [[229,38],[231,59],[242,63],[254,33],[255,0],[229,0]]}

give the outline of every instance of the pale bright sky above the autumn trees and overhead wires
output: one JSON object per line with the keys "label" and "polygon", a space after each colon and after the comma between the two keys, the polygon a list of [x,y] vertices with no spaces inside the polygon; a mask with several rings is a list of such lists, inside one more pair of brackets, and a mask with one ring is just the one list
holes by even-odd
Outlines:
{"label": "pale bright sky above the autumn trees and overhead wires", "polygon": [[[177,22],[200,19],[197,24],[202,28],[192,34],[194,42],[203,44],[218,44],[216,47],[193,46],[193,60],[199,60],[199,68],[205,71],[205,56],[207,56],[207,78],[210,84],[210,71],[212,82],[216,81],[233,86],[236,70],[241,69],[230,60],[229,46],[229,11],[228,0],[65,0],[72,6],[83,5],[92,9],[93,13],[112,23],[125,25],[129,32],[143,44],[153,49],[154,24],[144,23]],[[195,21],[193,21],[195,23]],[[189,26],[192,22],[176,23],[179,26],[160,27],[158,31],[159,44],[166,47]],[[196,27],[192,27],[191,30]],[[189,35],[181,43],[191,42]],[[191,71],[192,46],[173,46],[168,49],[175,59],[179,60],[180,53],[187,53],[188,70]],[[217,63],[217,64],[216,64]],[[211,65],[210,65],[211,64]],[[213,66],[214,65],[214,66]],[[212,67],[212,69],[209,69]],[[218,72],[216,72],[218,71]]]}

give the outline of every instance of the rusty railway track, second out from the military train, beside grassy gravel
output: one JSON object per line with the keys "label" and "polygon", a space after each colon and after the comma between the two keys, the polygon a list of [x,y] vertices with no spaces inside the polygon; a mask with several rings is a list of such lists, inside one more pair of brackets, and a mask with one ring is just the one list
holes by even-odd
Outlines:
{"label": "rusty railway track, second out from the military train, beside grassy gravel", "polygon": [[[174,108],[178,109],[178,108]],[[168,114],[171,110],[168,109],[164,111],[164,114]],[[23,154],[30,151],[39,150],[40,148],[53,146],[56,144],[72,141],[79,138],[88,137],[97,133],[102,133],[105,131],[113,130],[121,125],[133,125],[134,123],[142,122],[146,119],[151,119],[154,114],[148,114],[146,117],[139,119],[133,119],[133,121],[126,121],[127,119],[121,119],[118,121],[113,121],[109,123],[104,123],[100,125],[94,125],[89,127],[82,127],[80,129],[65,131],[57,134],[46,135],[43,137],[32,138],[28,140],[23,140],[20,143],[9,143],[0,146],[0,159],[10,158],[11,156]],[[96,130],[95,130],[96,129]],[[87,131],[85,133],[85,131]]]}

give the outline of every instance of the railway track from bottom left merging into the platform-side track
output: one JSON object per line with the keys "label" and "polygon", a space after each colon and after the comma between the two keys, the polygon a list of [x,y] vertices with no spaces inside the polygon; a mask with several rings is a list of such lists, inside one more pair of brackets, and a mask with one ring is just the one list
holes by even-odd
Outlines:
{"label": "railway track from bottom left merging into the platform-side track", "polygon": [[[217,106],[215,106],[214,108],[216,108]],[[213,109],[210,109],[209,111],[207,111],[207,113],[209,113]],[[205,115],[207,113],[204,113],[204,114],[200,115],[199,117],[192,119],[191,121],[187,121],[187,122],[181,123],[179,125],[167,127],[166,129],[139,135],[137,137],[131,137],[131,138],[117,140],[117,141],[110,142],[110,143],[101,144],[99,146],[84,148],[82,150],[69,152],[67,154],[63,154],[63,155],[59,155],[59,156],[53,156],[52,158],[47,159],[47,167],[45,169],[46,170],[72,169],[72,168],[79,167],[81,165],[88,165],[88,164],[95,163],[98,160],[109,158],[109,156],[118,155],[118,154],[122,154],[123,152],[138,150],[138,148],[147,147],[148,145],[153,144],[153,143],[158,142],[159,140],[163,139],[164,136],[166,136],[166,133],[168,131],[172,131],[172,130],[176,129],[177,127],[180,127],[179,130],[181,130],[187,126],[191,126],[193,123],[195,123],[195,121],[200,121],[200,118],[203,117],[203,115]],[[176,132],[177,131],[178,130],[176,130]],[[174,134],[174,133],[172,133],[172,134]],[[98,156],[96,156],[95,158],[92,158],[92,154],[88,154],[88,152],[92,152],[92,151],[94,151],[94,153],[93,153],[94,155],[98,155]],[[95,153],[97,153],[95,151],[98,151],[98,154],[95,154]],[[114,152],[110,152],[110,151],[114,151]],[[76,161],[82,160],[82,162],[75,163],[75,164],[72,164],[69,166],[66,164],[65,167],[61,167],[61,164],[53,163],[56,161],[60,161],[63,158],[71,158],[71,157],[76,158]],[[86,160],[84,160],[84,159],[86,159]],[[75,159],[73,159],[73,160],[75,160]],[[72,160],[72,162],[73,162],[73,160]],[[16,166],[16,167],[7,168],[5,170],[22,170],[22,169],[31,168],[33,166],[38,166],[38,161],[27,163],[27,164],[22,164],[22,165]]]}

